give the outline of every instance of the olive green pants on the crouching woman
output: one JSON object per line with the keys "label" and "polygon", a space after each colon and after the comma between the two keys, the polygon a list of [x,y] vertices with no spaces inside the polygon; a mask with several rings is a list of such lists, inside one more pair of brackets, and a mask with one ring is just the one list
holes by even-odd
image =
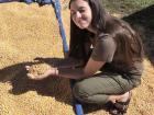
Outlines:
{"label": "olive green pants on the crouching woman", "polygon": [[84,103],[106,104],[109,95],[123,94],[134,88],[129,79],[118,73],[100,73],[76,81],[74,96]]}

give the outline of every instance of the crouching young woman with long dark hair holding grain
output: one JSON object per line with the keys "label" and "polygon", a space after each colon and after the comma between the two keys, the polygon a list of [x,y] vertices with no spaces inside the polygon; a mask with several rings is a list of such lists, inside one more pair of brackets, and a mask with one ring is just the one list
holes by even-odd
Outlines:
{"label": "crouching young woman with long dark hair holding grain", "polygon": [[140,36],[127,22],[106,13],[101,0],[70,0],[69,9],[67,59],[78,59],[80,65],[54,68],[37,77],[28,76],[34,80],[52,76],[76,79],[73,94],[78,101],[112,102],[111,113],[122,115],[127,112],[131,90],[141,83],[143,47]]}

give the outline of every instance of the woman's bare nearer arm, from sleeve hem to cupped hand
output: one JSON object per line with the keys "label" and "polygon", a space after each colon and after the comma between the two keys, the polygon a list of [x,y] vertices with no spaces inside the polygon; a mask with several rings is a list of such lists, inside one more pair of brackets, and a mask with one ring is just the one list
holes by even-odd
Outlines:
{"label": "woman's bare nearer arm, from sleeve hem to cupped hand", "polygon": [[[47,77],[82,79],[94,76],[103,65],[103,61],[96,61],[90,58],[84,68],[52,68],[42,76],[28,73],[28,77],[34,80],[42,80]],[[26,68],[26,70],[29,70],[29,68]]]}

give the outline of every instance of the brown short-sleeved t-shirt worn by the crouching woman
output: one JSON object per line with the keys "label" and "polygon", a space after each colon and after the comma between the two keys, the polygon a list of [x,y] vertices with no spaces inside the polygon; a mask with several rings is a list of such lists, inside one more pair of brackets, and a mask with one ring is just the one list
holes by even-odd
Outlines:
{"label": "brown short-sleeved t-shirt worn by the crouching woman", "polygon": [[[110,71],[114,71],[123,74],[128,79],[141,81],[141,74],[143,71],[143,65],[140,61],[129,67],[122,64],[120,60],[124,59],[122,54],[116,54],[117,43],[108,34],[100,34],[96,38],[91,58],[97,61],[106,61],[102,68],[107,68]],[[135,55],[135,54],[134,54]]]}

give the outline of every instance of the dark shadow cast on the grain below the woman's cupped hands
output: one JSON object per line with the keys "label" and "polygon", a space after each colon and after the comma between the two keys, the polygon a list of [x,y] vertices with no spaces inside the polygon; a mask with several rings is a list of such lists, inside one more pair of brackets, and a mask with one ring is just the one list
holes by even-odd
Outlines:
{"label": "dark shadow cast on the grain below the woman's cupped hands", "polygon": [[25,66],[41,62],[21,62],[6,67],[0,70],[0,82],[9,82],[12,85],[9,93],[14,95],[36,91],[40,95],[52,96],[57,101],[72,104],[72,93],[67,79],[48,77],[44,80],[35,81],[28,78]]}

